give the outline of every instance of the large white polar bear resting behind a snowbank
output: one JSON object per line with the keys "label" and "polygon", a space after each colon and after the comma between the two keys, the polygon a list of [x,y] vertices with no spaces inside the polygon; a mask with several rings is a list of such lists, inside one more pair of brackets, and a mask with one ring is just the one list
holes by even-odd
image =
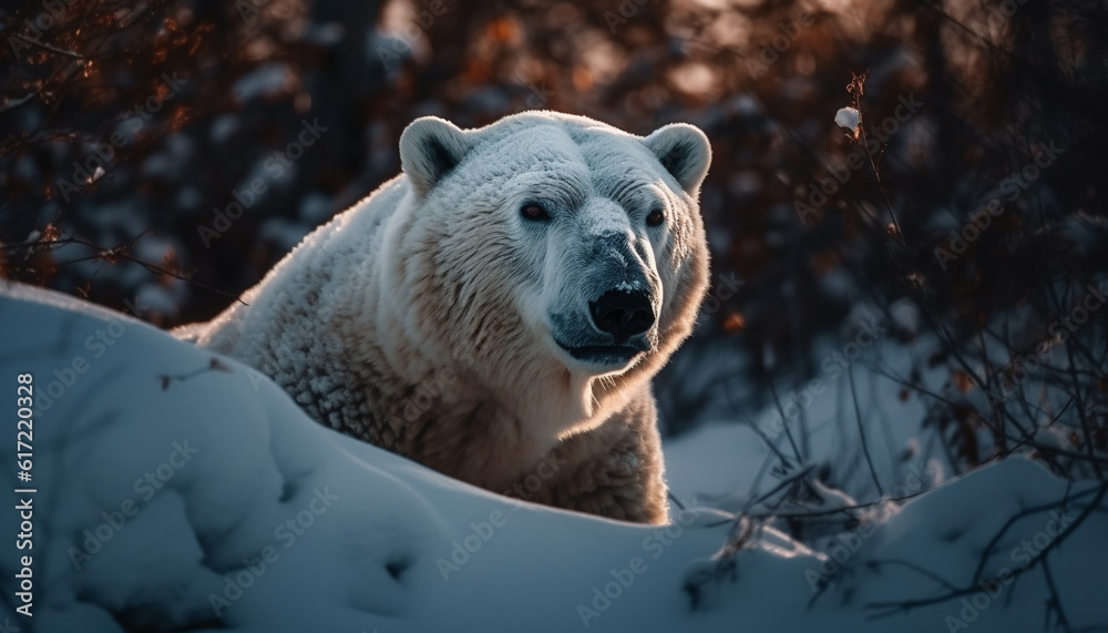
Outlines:
{"label": "large white polar bear resting behind a snowbank", "polygon": [[453,478],[626,521],[667,519],[650,379],[707,286],[711,150],[526,112],[400,139],[401,175],[181,338],[316,420]]}

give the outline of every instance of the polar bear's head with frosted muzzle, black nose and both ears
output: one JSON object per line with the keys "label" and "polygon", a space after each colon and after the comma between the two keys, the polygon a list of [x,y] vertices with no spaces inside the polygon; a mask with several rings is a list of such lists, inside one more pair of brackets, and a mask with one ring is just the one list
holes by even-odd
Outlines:
{"label": "polar bear's head with frosted muzzle, black nose and both ears", "polygon": [[425,116],[386,237],[404,336],[554,442],[623,407],[689,335],[708,277],[693,125],[642,137],[582,116],[475,130]]}

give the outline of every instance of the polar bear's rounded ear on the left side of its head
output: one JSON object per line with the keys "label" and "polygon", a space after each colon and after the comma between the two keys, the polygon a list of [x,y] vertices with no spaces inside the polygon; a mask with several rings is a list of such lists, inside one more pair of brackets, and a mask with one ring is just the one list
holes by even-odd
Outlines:
{"label": "polar bear's rounded ear on the left side of its head", "polygon": [[438,116],[412,121],[400,135],[400,164],[420,195],[458,166],[470,143],[456,125]]}

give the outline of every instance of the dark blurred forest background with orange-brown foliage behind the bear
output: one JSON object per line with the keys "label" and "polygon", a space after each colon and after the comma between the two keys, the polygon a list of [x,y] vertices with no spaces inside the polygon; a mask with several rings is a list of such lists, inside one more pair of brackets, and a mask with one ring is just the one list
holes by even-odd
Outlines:
{"label": "dark blurred forest background with orange-brown foliage behind the bear", "polygon": [[876,318],[956,470],[1108,468],[1105,2],[19,0],[0,23],[7,278],[207,319],[397,174],[417,116],[687,121],[715,152],[712,289],[656,385],[667,432],[783,411]]}

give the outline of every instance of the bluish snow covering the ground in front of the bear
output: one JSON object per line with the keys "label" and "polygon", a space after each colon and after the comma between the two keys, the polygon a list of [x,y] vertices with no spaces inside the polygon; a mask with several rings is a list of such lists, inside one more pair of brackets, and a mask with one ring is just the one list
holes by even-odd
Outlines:
{"label": "bluish snow covering the ground in front of the bear", "polygon": [[[782,477],[760,474],[769,449],[749,425],[667,446],[686,510],[634,525],[503,498],[338,435],[256,371],[63,295],[0,286],[0,377],[12,390],[34,377],[33,482],[18,484],[38,490],[34,617],[12,612],[10,581],[0,613],[24,631],[1022,631],[1053,622],[1048,578],[1073,630],[1106,623],[1105,489],[1027,459],[858,511],[865,521],[810,548],[736,522],[769,508],[747,502]],[[856,382],[863,398],[888,390],[861,367]],[[897,443],[917,432],[905,426]],[[823,428],[809,462],[845,441]],[[879,464],[889,482],[903,474],[893,466]],[[850,489],[818,487],[814,503],[876,500]],[[742,525],[743,548],[725,555]],[[8,542],[18,528],[6,514]],[[1049,576],[1032,555],[1044,550]],[[951,589],[967,592],[926,602]],[[909,601],[921,602],[897,608]]]}

